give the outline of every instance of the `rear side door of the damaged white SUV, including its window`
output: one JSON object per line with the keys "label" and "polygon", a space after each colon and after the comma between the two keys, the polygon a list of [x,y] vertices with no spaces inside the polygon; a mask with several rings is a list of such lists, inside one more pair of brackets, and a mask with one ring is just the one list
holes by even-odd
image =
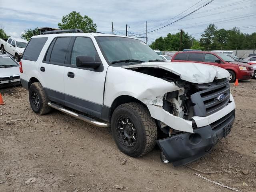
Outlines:
{"label": "rear side door of the damaged white SUV, including its window", "polygon": [[71,40],[72,37],[54,38],[38,68],[42,86],[49,99],[61,104],[65,104],[64,71],[68,65],[67,55]]}

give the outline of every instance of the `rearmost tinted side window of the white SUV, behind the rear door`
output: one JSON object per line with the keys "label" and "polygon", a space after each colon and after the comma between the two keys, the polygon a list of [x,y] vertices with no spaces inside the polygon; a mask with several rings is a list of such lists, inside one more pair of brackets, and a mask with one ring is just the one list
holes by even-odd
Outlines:
{"label": "rearmost tinted side window of the white SUV, behind the rear door", "polygon": [[47,37],[31,38],[26,46],[22,59],[36,61],[47,39]]}

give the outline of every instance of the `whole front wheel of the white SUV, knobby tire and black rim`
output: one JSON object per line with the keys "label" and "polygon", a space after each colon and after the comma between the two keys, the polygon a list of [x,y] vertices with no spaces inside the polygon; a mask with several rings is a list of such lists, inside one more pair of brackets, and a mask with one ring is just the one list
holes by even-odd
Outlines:
{"label": "whole front wheel of the white SUV, knobby tire and black rim", "polygon": [[112,115],[111,131],[120,151],[132,157],[150,152],[156,144],[156,122],[139,103],[118,106]]}

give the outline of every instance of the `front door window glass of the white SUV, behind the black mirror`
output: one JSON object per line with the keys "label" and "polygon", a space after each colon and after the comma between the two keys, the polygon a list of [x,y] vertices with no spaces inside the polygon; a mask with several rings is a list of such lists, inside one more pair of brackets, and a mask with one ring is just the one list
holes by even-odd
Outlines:
{"label": "front door window glass of the white SUV, behind the black mirror", "polygon": [[71,64],[76,65],[76,56],[90,56],[95,59],[96,50],[94,44],[90,38],[86,37],[77,37],[72,54],[71,54]]}

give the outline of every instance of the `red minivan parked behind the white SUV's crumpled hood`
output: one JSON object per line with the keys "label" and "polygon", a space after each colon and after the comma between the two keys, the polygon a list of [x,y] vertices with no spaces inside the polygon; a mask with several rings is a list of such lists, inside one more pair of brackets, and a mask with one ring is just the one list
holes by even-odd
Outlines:
{"label": "red minivan parked behind the white SUV's crumpled hood", "polygon": [[252,66],[236,62],[231,57],[223,53],[205,52],[205,51],[186,51],[177,52],[172,57],[172,62],[193,62],[204,63],[209,65],[218,66],[228,70],[230,77],[229,81],[234,82],[237,79],[247,80],[252,78],[253,69]]}

